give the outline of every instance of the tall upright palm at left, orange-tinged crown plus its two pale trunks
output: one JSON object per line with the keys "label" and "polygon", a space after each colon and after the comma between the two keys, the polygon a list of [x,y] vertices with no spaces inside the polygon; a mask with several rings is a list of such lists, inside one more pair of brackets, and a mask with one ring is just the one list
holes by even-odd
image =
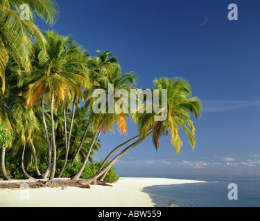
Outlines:
{"label": "tall upright palm at left, orange-tinged crown plus its two pale trunks", "polygon": [[[42,97],[42,119],[44,119],[44,102],[49,100],[51,106],[51,141],[53,146],[53,167],[51,169],[50,180],[53,180],[55,174],[56,145],[55,145],[55,125],[53,118],[53,107],[58,108],[67,101],[70,93],[77,94],[83,98],[84,94],[81,88],[89,86],[87,69],[80,62],[75,60],[75,55],[82,50],[81,46],[72,41],[69,36],[60,36],[55,32],[45,33],[46,40],[49,43],[47,50],[35,46],[35,59],[33,60],[34,70],[29,78],[31,84],[28,85],[26,93],[26,105],[33,108],[35,102]],[[51,159],[51,142],[44,122],[44,131],[49,148],[49,159]],[[49,160],[48,168],[44,177],[48,175],[51,162]]]}

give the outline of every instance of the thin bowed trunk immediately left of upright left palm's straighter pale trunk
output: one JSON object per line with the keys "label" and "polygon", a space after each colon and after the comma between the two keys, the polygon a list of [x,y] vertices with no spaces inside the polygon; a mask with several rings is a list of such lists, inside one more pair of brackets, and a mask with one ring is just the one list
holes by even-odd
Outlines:
{"label": "thin bowed trunk immediately left of upright left palm's straighter pale trunk", "polygon": [[46,143],[49,151],[49,160],[48,160],[48,166],[47,169],[42,175],[40,175],[40,179],[46,179],[51,171],[51,142],[50,142],[50,137],[48,133],[48,128],[45,120],[45,115],[44,115],[44,95],[42,95],[42,122],[44,124],[44,132],[45,132],[45,137],[46,137]]}

